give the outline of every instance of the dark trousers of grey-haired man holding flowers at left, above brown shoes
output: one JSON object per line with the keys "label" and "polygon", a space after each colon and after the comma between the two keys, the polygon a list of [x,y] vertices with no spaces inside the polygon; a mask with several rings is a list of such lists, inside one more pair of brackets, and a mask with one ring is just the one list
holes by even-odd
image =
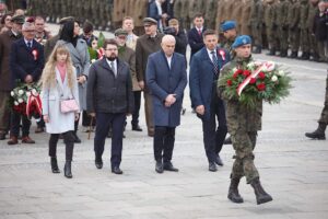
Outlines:
{"label": "dark trousers of grey-haired man holding flowers at left, above brown shoes", "polygon": [[19,114],[13,111],[11,114],[11,127],[10,127],[11,136],[19,137],[21,120],[22,120],[23,137],[30,135],[31,120],[27,118],[27,116],[23,116],[22,114]]}

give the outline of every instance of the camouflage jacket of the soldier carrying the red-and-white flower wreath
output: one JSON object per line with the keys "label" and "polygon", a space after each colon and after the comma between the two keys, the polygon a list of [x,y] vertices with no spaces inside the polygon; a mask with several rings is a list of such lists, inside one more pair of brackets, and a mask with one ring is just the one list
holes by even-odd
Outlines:
{"label": "camouflage jacket of the soldier carrying the red-and-white flower wreath", "polygon": [[[220,79],[232,71],[234,68],[242,68],[251,62],[251,57],[248,59],[241,59],[235,57],[231,62],[226,64],[220,72]],[[234,135],[235,131],[257,131],[261,129],[262,117],[262,101],[259,101],[255,108],[249,108],[238,102],[238,100],[227,100],[224,96],[225,87],[220,85],[218,88],[219,96],[226,103],[226,125],[230,134]]]}

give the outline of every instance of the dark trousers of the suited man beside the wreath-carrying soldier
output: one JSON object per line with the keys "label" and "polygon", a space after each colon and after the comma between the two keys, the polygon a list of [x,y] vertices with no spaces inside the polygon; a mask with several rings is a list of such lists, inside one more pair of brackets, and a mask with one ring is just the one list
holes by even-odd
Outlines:
{"label": "dark trousers of the suited man beside the wreath-carrying soldier", "polygon": [[214,162],[222,149],[227,132],[223,101],[215,96],[215,100],[212,101],[210,111],[210,117],[203,117],[201,120],[206,153],[209,162]]}

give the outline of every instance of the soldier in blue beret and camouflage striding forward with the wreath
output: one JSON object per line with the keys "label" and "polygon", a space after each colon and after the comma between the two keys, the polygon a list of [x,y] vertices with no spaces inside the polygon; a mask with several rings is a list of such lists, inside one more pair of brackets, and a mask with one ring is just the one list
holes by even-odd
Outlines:
{"label": "soldier in blue beret and camouflage striding forward with the wreath", "polygon": [[238,193],[239,180],[246,176],[246,181],[254,187],[257,204],[272,200],[272,197],[265,192],[259,181],[259,173],[254,164],[254,148],[256,145],[257,131],[261,129],[262,101],[259,100],[255,108],[249,108],[238,102],[230,100],[224,95],[225,82],[220,81],[222,77],[233,69],[243,69],[251,62],[251,39],[247,35],[238,36],[233,48],[236,51],[235,58],[225,65],[219,78],[218,94],[226,101],[226,123],[235,150],[234,164],[231,173],[231,184],[227,198],[233,203],[243,203],[244,199]]}

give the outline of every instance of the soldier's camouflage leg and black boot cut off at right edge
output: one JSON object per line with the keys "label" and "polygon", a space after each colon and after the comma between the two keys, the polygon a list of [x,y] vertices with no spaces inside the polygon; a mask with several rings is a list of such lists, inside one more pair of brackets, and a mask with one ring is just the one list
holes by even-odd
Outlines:
{"label": "soldier's camouflage leg and black boot cut off at right edge", "polygon": [[305,136],[313,139],[325,140],[326,135],[325,130],[328,125],[328,71],[327,71],[327,79],[326,79],[326,97],[325,97],[325,106],[321,112],[321,116],[318,120],[319,126],[313,132],[306,132]]}

